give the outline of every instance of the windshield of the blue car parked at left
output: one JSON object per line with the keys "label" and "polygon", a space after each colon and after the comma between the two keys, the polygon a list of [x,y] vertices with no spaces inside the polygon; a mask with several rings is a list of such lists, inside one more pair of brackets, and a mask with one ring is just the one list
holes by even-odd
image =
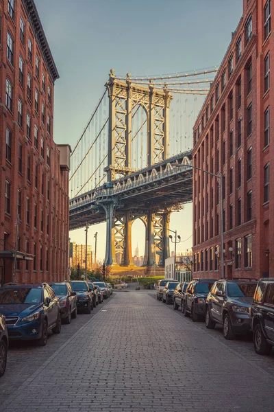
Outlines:
{"label": "windshield of the blue car parked at left", "polygon": [[0,288],[0,304],[38,304],[42,301],[42,288]]}

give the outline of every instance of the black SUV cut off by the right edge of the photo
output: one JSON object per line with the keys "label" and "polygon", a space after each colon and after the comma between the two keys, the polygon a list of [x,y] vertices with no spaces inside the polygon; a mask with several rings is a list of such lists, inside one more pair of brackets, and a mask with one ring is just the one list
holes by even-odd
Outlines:
{"label": "black SUV cut off by the right edge of the photo", "polygon": [[274,277],[259,280],[251,307],[254,349],[260,355],[271,354],[274,346]]}

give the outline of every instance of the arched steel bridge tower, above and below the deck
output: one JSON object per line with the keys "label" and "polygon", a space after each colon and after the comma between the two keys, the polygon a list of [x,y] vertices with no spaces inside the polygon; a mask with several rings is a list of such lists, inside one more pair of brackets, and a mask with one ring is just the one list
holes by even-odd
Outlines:
{"label": "arched steel bridge tower, above and below the deck", "polygon": [[[127,73],[125,81],[116,79],[114,70],[110,70],[110,78],[105,87],[109,98],[109,130],[108,130],[108,183],[114,179],[134,172],[132,164],[132,142],[134,115],[138,109],[145,110],[145,167],[149,167],[169,157],[169,107],[172,96],[164,87],[156,89],[153,82],[149,87],[142,87],[131,80]],[[142,126],[144,125],[142,124]],[[143,164],[142,163],[142,164]],[[138,216],[132,210],[119,215],[115,199],[101,203],[107,221],[105,248],[105,264],[116,264],[116,252],[122,253],[121,264],[130,266],[132,260],[132,223],[136,217],[142,218],[146,228],[146,247],[144,266],[164,266],[164,259],[169,257],[169,216],[170,211],[158,210],[145,205]],[[156,259],[156,257],[158,258]],[[156,262],[158,260],[158,262]]]}

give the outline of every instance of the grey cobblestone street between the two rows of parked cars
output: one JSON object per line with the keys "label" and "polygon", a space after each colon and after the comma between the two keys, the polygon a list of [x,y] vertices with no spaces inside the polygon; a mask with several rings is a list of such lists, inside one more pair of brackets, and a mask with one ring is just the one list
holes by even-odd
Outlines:
{"label": "grey cobblestone street between the two rows of parked cars", "polygon": [[152,291],[116,292],[1,410],[273,412],[274,356],[251,357],[249,347],[193,324]]}

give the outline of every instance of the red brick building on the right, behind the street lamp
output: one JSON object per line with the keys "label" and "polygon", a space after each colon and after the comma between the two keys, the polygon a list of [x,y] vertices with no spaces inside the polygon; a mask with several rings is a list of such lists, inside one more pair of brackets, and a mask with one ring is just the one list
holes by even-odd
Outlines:
{"label": "red brick building on the right, behind the street lamp", "polygon": [[271,0],[243,0],[242,18],[194,126],[193,165],[223,179],[221,205],[219,179],[193,170],[196,277],[221,277],[221,214],[225,277],[273,273],[271,67]]}

